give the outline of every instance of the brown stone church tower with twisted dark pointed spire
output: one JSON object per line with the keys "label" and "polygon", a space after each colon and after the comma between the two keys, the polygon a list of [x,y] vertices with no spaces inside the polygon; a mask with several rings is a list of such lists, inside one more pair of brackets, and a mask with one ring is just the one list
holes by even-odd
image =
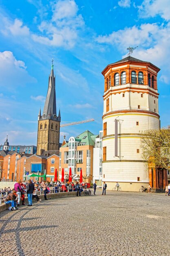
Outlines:
{"label": "brown stone church tower with twisted dark pointed spire", "polygon": [[60,110],[58,117],[56,111],[55,76],[52,64],[44,110],[41,115],[40,109],[38,115],[37,155],[42,155],[44,150],[59,150],[60,122]]}

